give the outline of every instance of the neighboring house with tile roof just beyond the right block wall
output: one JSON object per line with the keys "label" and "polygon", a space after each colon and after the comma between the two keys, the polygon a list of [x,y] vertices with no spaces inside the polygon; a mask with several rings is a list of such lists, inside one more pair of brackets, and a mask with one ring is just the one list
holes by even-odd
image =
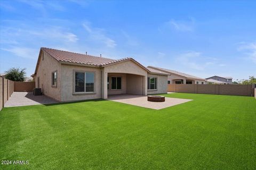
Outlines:
{"label": "neighboring house with tile roof just beyond the right block wall", "polygon": [[155,69],[168,74],[168,84],[206,84],[205,79],[195,77],[194,75],[189,75],[186,73],[163,69],[155,66],[148,66],[147,68]]}

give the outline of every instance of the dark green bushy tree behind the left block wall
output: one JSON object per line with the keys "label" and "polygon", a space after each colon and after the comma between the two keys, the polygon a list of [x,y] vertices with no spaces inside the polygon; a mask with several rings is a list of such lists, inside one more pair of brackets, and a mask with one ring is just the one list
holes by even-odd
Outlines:
{"label": "dark green bushy tree behind the left block wall", "polygon": [[5,73],[5,79],[9,79],[12,81],[24,81],[26,79],[26,68],[20,69],[20,68],[11,68],[7,70]]}

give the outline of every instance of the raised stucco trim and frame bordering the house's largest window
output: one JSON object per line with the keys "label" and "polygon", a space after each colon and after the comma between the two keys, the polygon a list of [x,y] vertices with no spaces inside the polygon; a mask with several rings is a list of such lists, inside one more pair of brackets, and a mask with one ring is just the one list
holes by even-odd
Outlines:
{"label": "raised stucco trim and frame bordering the house's largest window", "polygon": [[[94,73],[94,81],[93,81],[93,91],[89,91],[89,92],[86,92],[85,90],[82,91],[82,92],[76,92],[76,78],[75,78],[75,74],[76,72],[79,72],[79,73]],[[91,71],[91,70],[76,70],[74,69],[73,70],[73,94],[72,95],[95,95],[97,92],[95,91],[95,78],[96,78],[96,72],[95,71]],[[85,77],[85,82],[84,82],[84,88],[86,88],[86,77]]]}

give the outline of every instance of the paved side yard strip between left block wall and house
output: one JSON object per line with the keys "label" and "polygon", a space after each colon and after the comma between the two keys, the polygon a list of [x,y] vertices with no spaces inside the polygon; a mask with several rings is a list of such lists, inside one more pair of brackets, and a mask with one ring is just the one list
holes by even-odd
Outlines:
{"label": "paved side yard strip between left block wall and house", "polygon": [[4,104],[4,107],[41,105],[51,103],[58,103],[58,101],[44,95],[34,96],[33,92],[13,92],[10,99]]}

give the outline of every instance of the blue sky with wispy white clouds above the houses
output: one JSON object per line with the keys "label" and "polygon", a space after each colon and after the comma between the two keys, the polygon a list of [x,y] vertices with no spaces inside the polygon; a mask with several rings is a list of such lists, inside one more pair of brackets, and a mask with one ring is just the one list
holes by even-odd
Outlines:
{"label": "blue sky with wispy white clouds above the houses", "polygon": [[207,78],[256,76],[255,1],[0,1],[0,73],[40,47]]}

